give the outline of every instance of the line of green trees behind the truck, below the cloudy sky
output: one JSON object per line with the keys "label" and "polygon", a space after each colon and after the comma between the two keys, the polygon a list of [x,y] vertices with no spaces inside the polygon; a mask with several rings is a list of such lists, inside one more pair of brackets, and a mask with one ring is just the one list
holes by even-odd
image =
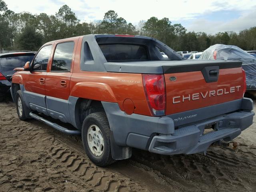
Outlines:
{"label": "line of green trees behind the truck, below the cloudy sky", "polygon": [[168,18],[151,17],[137,26],[119,17],[114,10],[102,20],[80,22],[76,14],[63,5],[55,15],[29,12],[15,13],[0,0],[0,49],[38,50],[42,44],[86,34],[131,34],[154,37],[176,51],[202,51],[214,44],[231,44],[244,50],[256,50],[256,27],[236,32],[187,32],[181,24]]}

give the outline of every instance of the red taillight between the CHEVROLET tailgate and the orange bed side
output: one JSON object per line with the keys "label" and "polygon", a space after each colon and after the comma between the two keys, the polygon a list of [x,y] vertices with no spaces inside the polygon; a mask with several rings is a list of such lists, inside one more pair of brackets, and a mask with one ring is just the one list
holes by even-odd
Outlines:
{"label": "red taillight between the CHEVROLET tailgate and the orange bed side", "polygon": [[142,74],[148,106],[153,116],[164,116],[166,93],[164,75]]}

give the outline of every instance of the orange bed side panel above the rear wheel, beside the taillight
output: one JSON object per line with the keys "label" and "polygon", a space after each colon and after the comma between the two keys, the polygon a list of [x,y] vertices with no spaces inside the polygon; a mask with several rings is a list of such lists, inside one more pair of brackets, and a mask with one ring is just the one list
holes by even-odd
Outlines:
{"label": "orange bed side panel above the rear wheel, beside the taillight", "polygon": [[117,102],[121,110],[124,100],[130,98],[134,113],[150,116],[141,74],[80,71],[72,74],[70,90],[71,96]]}

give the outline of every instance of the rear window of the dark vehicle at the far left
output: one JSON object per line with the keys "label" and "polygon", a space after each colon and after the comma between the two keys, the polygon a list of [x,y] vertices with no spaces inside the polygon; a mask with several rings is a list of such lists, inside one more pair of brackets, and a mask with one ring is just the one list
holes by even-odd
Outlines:
{"label": "rear window of the dark vehicle at the far left", "polygon": [[0,58],[2,67],[23,67],[26,62],[32,62],[34,55],[12,55]]}

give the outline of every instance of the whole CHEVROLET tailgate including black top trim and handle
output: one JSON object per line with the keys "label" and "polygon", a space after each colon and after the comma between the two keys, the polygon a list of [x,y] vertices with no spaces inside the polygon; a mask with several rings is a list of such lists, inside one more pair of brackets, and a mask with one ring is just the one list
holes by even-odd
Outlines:
{"label": "whole CHEVROLET tailgate including black top trim and handle", "polygon": [[[241,64],[213,62],[206,66],[200,63],[194,66],[180,66],[180,68],[163,66],[166,84],[166,115],[242,98]],[[209,82],[207,76],[211,75],[217,77]]]}

